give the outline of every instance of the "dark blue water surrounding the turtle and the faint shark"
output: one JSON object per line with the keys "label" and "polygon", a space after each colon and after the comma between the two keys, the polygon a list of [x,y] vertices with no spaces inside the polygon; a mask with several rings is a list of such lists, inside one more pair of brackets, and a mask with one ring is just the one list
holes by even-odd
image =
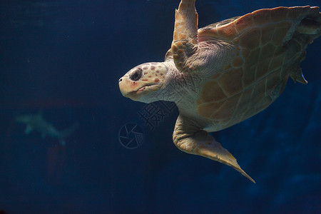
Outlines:
{"label": "dark blue water surrounding the turtle and the faint shark", "polygon": [[[202,27],[255,9],[320,3],[196,6]],[[0,213],[321,213],[320,38],[302,62],[307,85],[289,80],[265,111],[213,133],[256,184],[175,148],[175,106],[121,96],[118,78],[163,61],[178,4],[0,2]],[[163,116],[146,123],[151,108]],[[59,131],[79,124],[66,146],[37,131],[26,135],[15,121],[40,110]],[[133,142],[121,138],[126,124],[137,125]]]}

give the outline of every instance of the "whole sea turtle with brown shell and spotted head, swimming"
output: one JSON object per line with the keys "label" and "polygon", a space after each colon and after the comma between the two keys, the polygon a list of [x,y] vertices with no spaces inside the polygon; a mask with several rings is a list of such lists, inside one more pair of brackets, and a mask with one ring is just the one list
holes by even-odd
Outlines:
{"label": "whole sea turtle with brown shell and spotted head, swimming", "polygon": [[320,34],[317,6],[260,9],[198,29],[195,0],[182,0],[165,61],[132,68],[119,87],[133,101],[174,101],[180,113],[175,146],[230,165],[255,183],[208,132],[263,111],[289,76],[307,83],[300,63]]}

